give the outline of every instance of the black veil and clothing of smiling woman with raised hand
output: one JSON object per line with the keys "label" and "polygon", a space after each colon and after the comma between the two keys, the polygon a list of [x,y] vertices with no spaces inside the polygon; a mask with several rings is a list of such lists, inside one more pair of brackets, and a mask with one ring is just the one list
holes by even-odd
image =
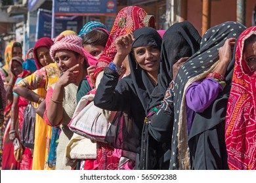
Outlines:
{"label": "black veil and clothing of smiling woman with raised hand", "polygon": [[[152,52],[157,51],[158,56],[152,56],[151,54],[149,56],[150,59],[146,60],[156,61],[156,72],[158,72],[161,37],[156,29],[152,27],[137,29],[133,32],[133,36],[135,37],[131,42],[133,49],[131,51],[130,48],[128,55],[131,74],[119,80],[120,75],[117,71],[114,71],[110,66],[106,67],[104,69],[104,76],[98,85],[94,102],[97,107],[123,112],[122,117],[125,116],[126,120],[113,122],[107,138],[114,136],[114,148],[123,150],[122,156],[133,160],[137,159],[136,163],[139,163],[140,139],[146,116],[145,111],[150,101],[150,93],[154,90],[156,83],[148,75],[148,71],[142,69],[143,65],[141,67],[135,60],[134,49],[140,46],[151,45],[150,49],[152,49]],[[119,51],[117,50],[117,52]],[[155,79],[157,80],[157,78]],[[120,123],[123,123],[122,127],[117,127]],[[138,165],[136,165],[135,169],[137,168]]]}

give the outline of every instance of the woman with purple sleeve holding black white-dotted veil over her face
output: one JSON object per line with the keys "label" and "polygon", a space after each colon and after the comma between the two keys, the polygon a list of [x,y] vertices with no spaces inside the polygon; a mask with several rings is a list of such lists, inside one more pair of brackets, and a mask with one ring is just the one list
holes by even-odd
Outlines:
{"label": "woman with purple sleeve holding black white-dotted veil over her face", "polygon": [[[200,50],[179,69],[169,169],[227,169],[224,122],[234,67],[231,48],[244,29],[237,22],[211,27]],[[222,57],[223,45],[228,59]]]}

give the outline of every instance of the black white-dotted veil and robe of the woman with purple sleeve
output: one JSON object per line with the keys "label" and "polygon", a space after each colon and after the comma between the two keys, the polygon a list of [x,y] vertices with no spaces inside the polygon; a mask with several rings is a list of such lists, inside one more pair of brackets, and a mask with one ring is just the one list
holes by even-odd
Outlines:
{"label": "black white-dotted veil and robe of the woman with purple sleeve", "polygon": [[[204,111],[196,113],[188,137],[186,128],[186,88],[211,73],[219,61],[219,48],[226,39],[237,38],[245,26],[224,22],[211,27],[202,37],[200,50],[194,54],[175,79],[174,125],[169,169],[226,169],[224,124],[230,92],[234,56],[226,71],[226,87]],[[189,147],[189,148],[188,148]]]}

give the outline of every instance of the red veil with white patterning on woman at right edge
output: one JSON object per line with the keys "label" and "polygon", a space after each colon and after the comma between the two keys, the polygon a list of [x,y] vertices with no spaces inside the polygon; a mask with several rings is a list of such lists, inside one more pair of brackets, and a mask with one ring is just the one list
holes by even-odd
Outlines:
{"label": "red veil with white patterning on woman at right edge", "polygon": [[225,133],[230,169],[256,169],[256,71],[243,58],[244,41],[251,35],[256,35],[256,26],[246,29],[236,45]]}

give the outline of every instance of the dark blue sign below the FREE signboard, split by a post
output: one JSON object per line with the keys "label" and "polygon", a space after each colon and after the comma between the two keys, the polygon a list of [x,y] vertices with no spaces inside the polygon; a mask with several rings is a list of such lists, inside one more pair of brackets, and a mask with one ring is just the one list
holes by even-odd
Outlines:
{"label": "dark blue sign below the FREE signboard, split by a post", "polygon": [[[36,39],[41,37],[51,38],[52,14],[45,10],[39,10],[37,15],[37,34]],[[79,33],[83,27],[83,17],[55,17],[55,35],[59,35],[62,31],[72,30]]]}

